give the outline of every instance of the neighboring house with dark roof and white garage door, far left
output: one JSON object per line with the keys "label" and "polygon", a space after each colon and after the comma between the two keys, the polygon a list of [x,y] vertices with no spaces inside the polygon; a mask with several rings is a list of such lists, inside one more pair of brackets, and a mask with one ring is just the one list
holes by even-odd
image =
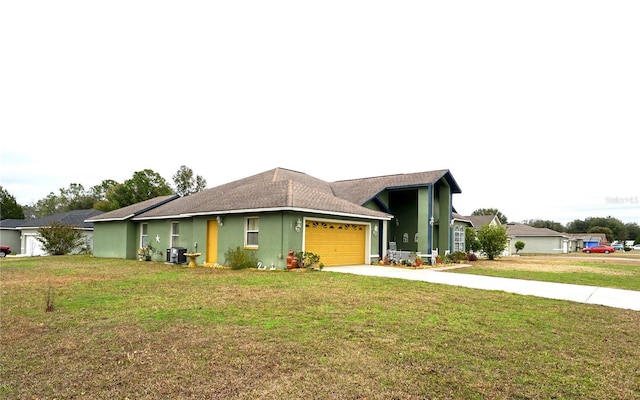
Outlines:
{"label": "neighboring house with dark roof and white garage door, far left", "polygon": [[[102,214],[98,210],[74,210],[50,215],[44,218],[21,220],[16,229],[20,233],[20,245],[12,252],[26,256],[41,256],[46,252],[42,249],[42,243],[38,240],[38,229],[48,227],[54,222],[70,225],[82,231],[84,243],[81,248],[91,251],[93,247],[93,223],[85,222],[87,218]],[[81,248],[76,251],[80,252]]]}

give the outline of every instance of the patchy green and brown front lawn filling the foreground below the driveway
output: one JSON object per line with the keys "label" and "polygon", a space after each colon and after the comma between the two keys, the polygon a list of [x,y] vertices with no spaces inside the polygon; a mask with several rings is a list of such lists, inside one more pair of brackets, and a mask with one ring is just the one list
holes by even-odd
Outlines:
{"label": "patchy green and brown front lawn filling the foreground below the driveway", "polygon": [[[0,261],[0,398],[626,399],[640,313],[426,282]],[[55,311],[45,295],[55,291]]]}

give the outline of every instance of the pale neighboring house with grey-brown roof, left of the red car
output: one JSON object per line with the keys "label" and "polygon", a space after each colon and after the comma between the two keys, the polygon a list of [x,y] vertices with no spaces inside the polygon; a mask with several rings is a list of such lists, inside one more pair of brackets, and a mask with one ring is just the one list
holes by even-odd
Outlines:
{"label": "pale neighboring house with grey-brown roof, left of the red car", "polygon": [[516,242],[523,242],[522,253],[526,254],[558,254],[575,251],[575,241],[567,234],[548,228],[509,222],[506,225],[509,245],[507,255],[516,254]]}

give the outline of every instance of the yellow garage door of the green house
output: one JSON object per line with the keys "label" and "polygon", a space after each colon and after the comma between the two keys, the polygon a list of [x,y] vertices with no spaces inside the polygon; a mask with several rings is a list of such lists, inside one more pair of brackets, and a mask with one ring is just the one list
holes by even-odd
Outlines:
{"label": "yellow garage door of the green house", "polygon": [[367,225],[307,220],[305,250],[326,266],[366,264]]}

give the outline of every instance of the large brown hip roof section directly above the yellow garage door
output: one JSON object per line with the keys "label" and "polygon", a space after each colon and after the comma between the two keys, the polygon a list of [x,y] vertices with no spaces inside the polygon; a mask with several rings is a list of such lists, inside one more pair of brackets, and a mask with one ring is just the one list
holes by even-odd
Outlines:
{"label": "large brown hip roof section directly above the yellow garage door", "polygon": [[275,168],[183,197],[135,219],[265,210],[308,210],[389,219],[389,214],[334,195],[331,185],[307,174]]}

